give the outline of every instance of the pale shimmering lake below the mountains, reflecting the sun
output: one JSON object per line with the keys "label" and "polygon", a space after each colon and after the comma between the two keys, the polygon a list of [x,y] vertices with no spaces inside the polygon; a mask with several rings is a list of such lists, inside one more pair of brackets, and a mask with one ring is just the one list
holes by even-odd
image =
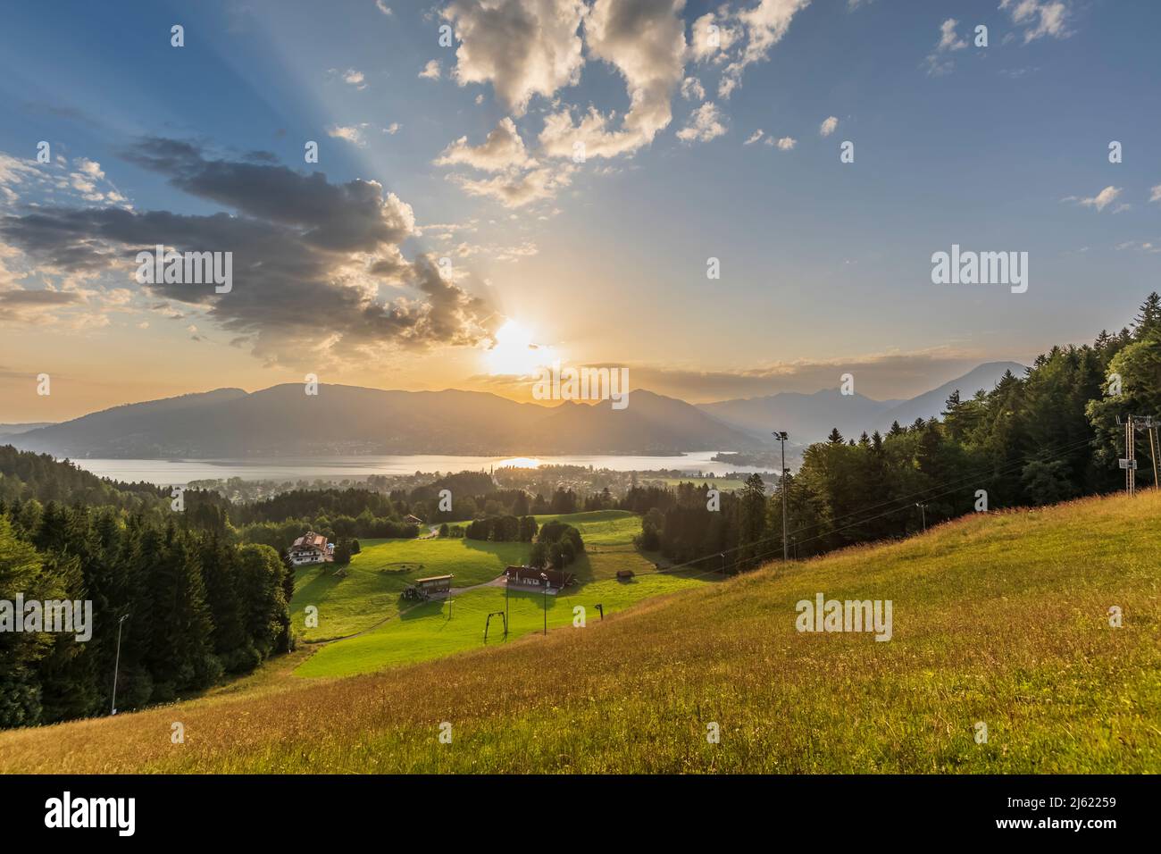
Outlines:
{"label": "pale shimmering lake below the mountains, reflecting the sun", "polygon": [[194,480],[297,481],[323,479],[366,478],[370,474],[434,474],[440,472],[478,472],[492,466],[592,466],[614,472],[649,472],[677,469],[685,473],[753,472],[753,466],[733,466],[714,462],[714,451],[697,451],[680,457],[303,457],[286,459],[237,460],[108,460],[77,459],[81,468],[102,478],[121,481],[145,481],[159,486],[185,486]]}

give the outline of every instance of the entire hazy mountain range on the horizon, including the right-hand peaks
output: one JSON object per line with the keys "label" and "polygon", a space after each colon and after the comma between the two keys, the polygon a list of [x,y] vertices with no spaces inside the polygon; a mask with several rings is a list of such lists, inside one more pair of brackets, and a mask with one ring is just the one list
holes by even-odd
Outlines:
{"label": "entire hazy mountain range on the horizon, including the right-hand peaks", "polygon": [[629,406],[518,403],[483,392],[389,392],[298,383],[247,393],[219,388],[130,403],[49,425],[3,425],[0,438],[55,457],[230,459],[329,454],[677,454],[760,451],[770,431],[798,445],[938,415],[956,388],[990,389],[1016,363],[981,365],[908,401],[823,390],[693,406],[644,389]]}

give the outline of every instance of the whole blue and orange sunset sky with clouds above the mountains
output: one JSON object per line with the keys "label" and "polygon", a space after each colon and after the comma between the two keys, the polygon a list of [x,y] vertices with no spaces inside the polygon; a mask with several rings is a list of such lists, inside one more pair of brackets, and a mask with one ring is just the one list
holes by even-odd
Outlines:
{"label": "whole blue and orange sunset sky with clouds above the mountains", "polygon": [[[1158,288],[1155,2],[55,9],[0,29],[0,423],[308,373],[526,400],[556,360],[901,399]],[[158,244],[229,293],[142,281]],[[1027,289],[935,284],[953,245]]]}

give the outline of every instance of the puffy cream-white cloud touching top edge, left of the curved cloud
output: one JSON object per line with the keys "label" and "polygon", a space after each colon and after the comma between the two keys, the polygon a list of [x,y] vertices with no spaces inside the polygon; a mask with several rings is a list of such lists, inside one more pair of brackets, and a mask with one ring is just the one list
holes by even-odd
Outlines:
{"label": "puffy cream-white cloud touching top edge, left of the curved cloud", "polygon": [[440,13],[460,41],[456,81],[491,82],[515,115],[533,95],[551,98],[579,82],[584,65],[580,0],[453,0]]}

